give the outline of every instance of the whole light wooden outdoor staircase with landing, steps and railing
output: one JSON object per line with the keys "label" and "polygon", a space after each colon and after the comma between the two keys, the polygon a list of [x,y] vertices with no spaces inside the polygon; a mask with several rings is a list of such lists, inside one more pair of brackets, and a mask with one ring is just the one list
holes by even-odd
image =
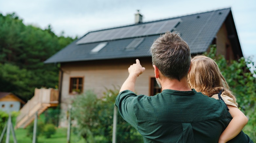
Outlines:
{"label": "whole light wooden outdoor staircase with landing, steps and railing", "polygon": [[58,96],[56,89],[35,88],[34,96],[20,109],[15,128],[26,128],[34,120],[36,112],[39,116],[47,108],[57,106]]}

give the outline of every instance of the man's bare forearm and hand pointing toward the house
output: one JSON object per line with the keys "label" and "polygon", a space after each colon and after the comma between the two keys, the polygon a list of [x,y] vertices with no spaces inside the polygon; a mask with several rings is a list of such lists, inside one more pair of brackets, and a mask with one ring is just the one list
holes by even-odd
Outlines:
{"label": "man's bare forearm and hand pointing toward the house", "polygon": [[129,76],[123,83],[120,92],[124,90],[131,90],[134,92],[137,77],[144,71],[145,68],[140,65],[139,59],[136,59],[136,64],[133,64],[128,68]]}

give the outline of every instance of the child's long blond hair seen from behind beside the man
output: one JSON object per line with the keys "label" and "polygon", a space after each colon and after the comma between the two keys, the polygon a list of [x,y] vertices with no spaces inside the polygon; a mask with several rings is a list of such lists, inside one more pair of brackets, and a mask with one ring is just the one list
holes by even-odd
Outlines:
{"label": "child's long blond hair seen from behind beside the man", "polygon": [[236,97],[221,74],[216,62],[207,56],[195,56],[191,60],[191,70],[188,73],[188,84],[197,92],[211,97],[224,89],[223,95],[229,96],[236,103]]}

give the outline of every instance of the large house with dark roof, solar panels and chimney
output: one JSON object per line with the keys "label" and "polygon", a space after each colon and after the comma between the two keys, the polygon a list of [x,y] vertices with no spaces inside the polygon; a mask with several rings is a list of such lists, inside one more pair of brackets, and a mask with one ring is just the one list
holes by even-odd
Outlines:
{"label": "large house with dark roof, solar panels and chimney", "polygon": [[160,92],[149,49],[166,31],[178,31],[192,55],[207,52],[211,44],[216,44],[217,54],[227,60],[243,56],[231,8],[145,23],[138,11],[135,19],[132,25],[88,32],[45,61],[61,65],[59,97],[63,111],[76,96],[73,91],[93,89],[101,96],[105,88],[121,86],[128,76],[128,67],[137,58],[146,71],[137,80],[136,92]]}

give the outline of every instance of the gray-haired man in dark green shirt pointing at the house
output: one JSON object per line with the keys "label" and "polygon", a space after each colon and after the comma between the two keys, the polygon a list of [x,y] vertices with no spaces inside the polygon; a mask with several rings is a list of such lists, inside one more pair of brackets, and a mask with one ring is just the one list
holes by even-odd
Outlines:
{"label": "gray-haired man in dark green shirt pointing at the house", "polygon": [[[143,136],[144,142],[218,142],[232,119],[224,102],[190,89],[191,56],[187,43],[173,32],[160,36],[150,48],[156,80],[162,92],[136,95],[137,77],[145,71],[139,60],[116,99],[119,113]],[[246,142],[241,132],[230,142]],[[248,142],[248,141],[247,141]]]}

